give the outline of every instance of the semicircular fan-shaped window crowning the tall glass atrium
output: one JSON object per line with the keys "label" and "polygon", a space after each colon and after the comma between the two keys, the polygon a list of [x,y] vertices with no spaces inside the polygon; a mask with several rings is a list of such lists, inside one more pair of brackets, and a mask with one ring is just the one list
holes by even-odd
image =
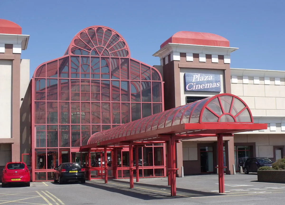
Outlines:
{"label": "semicircular fan-shaped window crowning the tall glass atrium", "polygon": [[124,39],[115,31],[107,27],[91,27],[84,29],[74,38],[66,53],[129,57],[129,48]]}

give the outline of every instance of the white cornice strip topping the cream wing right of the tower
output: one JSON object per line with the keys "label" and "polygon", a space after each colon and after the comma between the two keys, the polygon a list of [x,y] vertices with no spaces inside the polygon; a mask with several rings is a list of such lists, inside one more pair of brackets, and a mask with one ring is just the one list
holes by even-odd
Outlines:
{"label": "white cornice strip topping the cream wing right of the tower", "polygon": [[256,77],[285,78],[285,71],[241,69],[241,68],[231,68],[230,70],[231,70],[231,75],[234,75],[234,76],[256,76]]}

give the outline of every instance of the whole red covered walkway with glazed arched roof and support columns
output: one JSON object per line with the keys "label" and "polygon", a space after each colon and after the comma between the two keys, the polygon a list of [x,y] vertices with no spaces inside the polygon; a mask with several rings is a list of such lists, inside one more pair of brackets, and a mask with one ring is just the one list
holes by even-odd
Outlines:
{"label": "whole red covered walkway with glazed arched roof and support columns", "polygon": [[[223,93],[194,103],[179,106],[133,122],[120,125],[86,138],[82,148],[129,144],[130,153],[135,143],[164,140],[167,143],[168,185],[171,196],[176,196],[176,146],[181,139],[217,137],[219,192],[224,193],[223,136],[236,132],[266,129],[267,124],[254,124],[247,104],[239,97]],[[130,188],[133,188],[133,155],[130,154]],[[136,157],[136,164],[138,163]],[[137,169],[137,168],[136,168]],[[105,183],[107,183],[105,178]]]}

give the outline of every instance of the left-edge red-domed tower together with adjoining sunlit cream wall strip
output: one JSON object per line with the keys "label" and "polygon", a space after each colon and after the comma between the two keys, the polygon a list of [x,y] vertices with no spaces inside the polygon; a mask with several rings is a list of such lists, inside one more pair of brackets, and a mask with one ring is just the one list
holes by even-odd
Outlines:
{"label": "left-edge red-domed tower together with adjoining sunlit cream wall strip", "polygon": [[21,161],[20,106],[28,84],[30,61],[21,59],[29,35],[14,22],[0,19],[0,167]]}

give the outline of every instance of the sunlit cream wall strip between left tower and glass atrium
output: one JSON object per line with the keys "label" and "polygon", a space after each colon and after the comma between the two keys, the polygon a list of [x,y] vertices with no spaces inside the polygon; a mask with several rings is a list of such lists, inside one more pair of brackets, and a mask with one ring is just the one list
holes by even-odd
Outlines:
{"label": "sunlit cream wall strip between left tower and glass atrium", "polygon": [[30,83],[30,59],[21,59],[20,64],[20,107],[21,99],[25,97],[26,91]]}

